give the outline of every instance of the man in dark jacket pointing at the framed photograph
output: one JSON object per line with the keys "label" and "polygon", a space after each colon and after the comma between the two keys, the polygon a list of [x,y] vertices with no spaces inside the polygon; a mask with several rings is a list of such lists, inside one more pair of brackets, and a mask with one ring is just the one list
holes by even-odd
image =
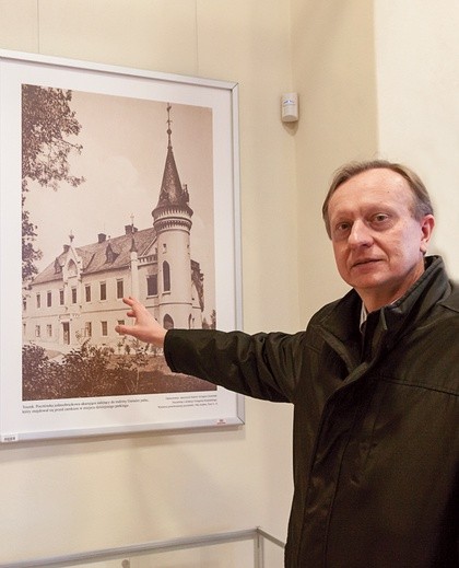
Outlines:
{"label": "man in dark jacket pointing at the framed photograph", "polygon": [[173,371],[294,404],[286,567],[458,567],[459,291],[425,256],[428,194],[402,165],[353,163],[323,219],[352,289],[305,332],[166,333],[134,299],[117,331]]}

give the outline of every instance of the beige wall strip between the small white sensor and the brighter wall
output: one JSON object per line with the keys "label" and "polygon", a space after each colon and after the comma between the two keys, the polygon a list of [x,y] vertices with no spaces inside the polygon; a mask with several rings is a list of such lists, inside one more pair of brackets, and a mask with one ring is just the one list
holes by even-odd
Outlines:
{"label": "beige wall strip between the small white sensor and the brighter wall", "polygon": [[377,152],[373,2],[292,1],[302,323],[346,287],[337,276],[321,206],[332,172]]}

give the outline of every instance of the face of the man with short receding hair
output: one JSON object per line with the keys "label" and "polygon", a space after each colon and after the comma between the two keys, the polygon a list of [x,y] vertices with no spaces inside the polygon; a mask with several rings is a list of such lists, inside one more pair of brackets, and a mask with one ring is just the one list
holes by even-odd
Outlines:
{"label": "face of the man with short receding hair", "polygon": [[338,271],[368,311],[393,302],[424,271],[432,215],[413,217],[408,182],[388,169],[355,175],[328,207]]}

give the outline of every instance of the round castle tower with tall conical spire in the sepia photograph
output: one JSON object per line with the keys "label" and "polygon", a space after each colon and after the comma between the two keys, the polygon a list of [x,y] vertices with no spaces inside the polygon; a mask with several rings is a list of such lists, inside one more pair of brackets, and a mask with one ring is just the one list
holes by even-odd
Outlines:
{"label": "round castle tower with tall conical spire in the sepia photograph", "polygon": [[190,230],[192,209],[181,185],[170,142],[167,105],[167,155],[160,198],[152,211],[157,235],[157,318],[164,327],[188,328],[192,320]]}

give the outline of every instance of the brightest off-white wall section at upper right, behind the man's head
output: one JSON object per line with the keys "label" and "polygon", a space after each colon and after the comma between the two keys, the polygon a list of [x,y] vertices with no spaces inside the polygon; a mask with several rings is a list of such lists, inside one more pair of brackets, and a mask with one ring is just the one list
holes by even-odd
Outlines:
{"label": "brightest off-white wall section at upper right, behind the man's head", "polygon": [[459,3],[375,2],[378,146],[411,165],[436,212],[431,253],[459,278]]}

